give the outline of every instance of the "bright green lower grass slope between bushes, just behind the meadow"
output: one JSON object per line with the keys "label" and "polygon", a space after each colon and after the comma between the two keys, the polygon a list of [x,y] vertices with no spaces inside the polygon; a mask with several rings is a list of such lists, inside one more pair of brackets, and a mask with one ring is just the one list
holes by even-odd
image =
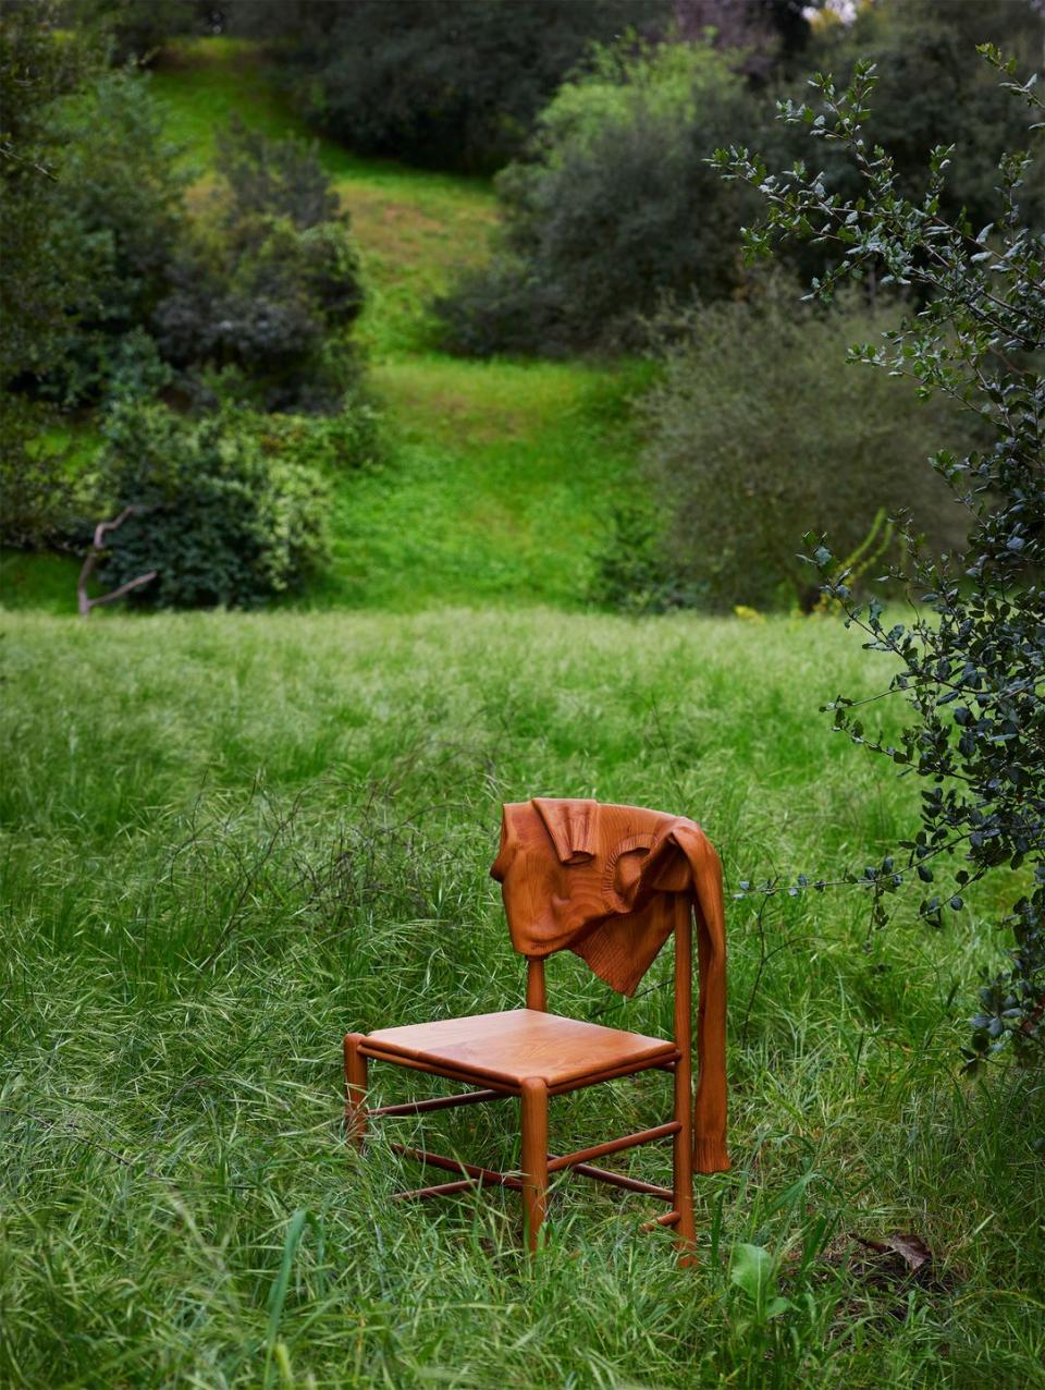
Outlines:
{"label": "bright green lower grass slope between bushes, just behind the meadow", "polygon": [[585,603],[632,475],[623,396],[639,374],[438,356],[374,371],[388,467],[340,491],[320,603]]}

